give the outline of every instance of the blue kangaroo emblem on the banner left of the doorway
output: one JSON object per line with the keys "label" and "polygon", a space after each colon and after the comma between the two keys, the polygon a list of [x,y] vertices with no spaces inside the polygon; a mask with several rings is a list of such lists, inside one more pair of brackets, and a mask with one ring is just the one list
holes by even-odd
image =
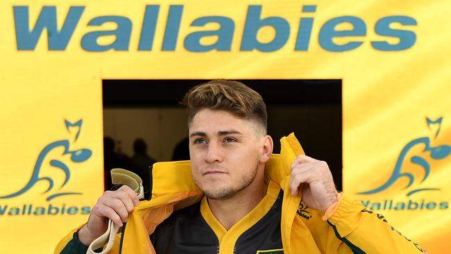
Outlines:
{"label": "blue kangaroo emblem on the banner left of the doorway", "polygon": [[[76,142],[76,140],[78,139],[78,137],[80,135],[80,130],[81,130],[82,124],[83,124],[83,119],[78,120],[75,124],[72,124],[71,122],[65,120],[65,126],[66,126],[67,130],[69,131],[69,133],[71,133],[70,127],[76,128],[76,135],[75,135],[74,142]],[[52,143],[48,144],[47,146],[45,146],[44,149],[42,149],[42,151],[40,152],[39,156],[37,157],[37,161],[36,161],[35,167],[33,169],[33,174],[31,175],[31,178],[30,178],[30,180],[28,180],[28,183],[25,185],[25,187],[23,187],[22,189],[20,189],[19,191],[15,192],[15,193],[12,193],[12,194],[9,194],[6,196],[0,196],[0,198],[14,198],[16,196],[20,196],[20,195],[24,194],[25,192],[28,192],[28,190],[31,189],[31,187],[33,187],[33,185],[35,185],[39,181],[43,181],[43,182],[46,182],[49,184],[49,187],[46,189],[46,191],[43,194],[50,192],[51,189],[53,189],[53,187],[54,187],[53,179],[51,178],[51,176],[47,175],[48,174],[47,171],[44,173],[44,172],[42,172],[41,169],[43,166],[42,164],[44,162],[44,159],[47,157],[47,155],[49,155],[49,153],[51,151],[62,147],[62,148],[64,148],[64,152],[60,155],[60,157],[63,157],[63,156],[67,157],[66,155],[69,155],[70,160],[72,162],[76,162],[76,163],[85,162],[92,155],[92,151],[90,149],[78,149],[78,150],[72,151],[70,149],[70,146],[71,146],[71,142],[69,142],[69,139],[63,139],[63,140],[59,140],[56,142],[52,142]],[[60,169],[65,173],[65,180],[59,188],[59,189],[61,189],[69,182],[69,179],[71,176],[69,167],[67,167],[67,165],[65,163],[61,162],[61,160],[58,160],[58,158],[50,160],[49,164],[51,167]],[[50,196],[48,196],[46,198],[46,201],[51,201],[53,198],[56,198],[58,196],[80,195],[80,194],[81,194],[81,192],[58,192],[56,194],[51,194]]]}

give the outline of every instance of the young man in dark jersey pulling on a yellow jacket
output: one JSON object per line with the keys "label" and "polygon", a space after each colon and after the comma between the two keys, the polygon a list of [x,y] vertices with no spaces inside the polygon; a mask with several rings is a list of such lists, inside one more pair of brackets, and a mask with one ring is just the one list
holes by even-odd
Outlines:
{"label": "young man in dark jersey pulling on a yellow jacket", "polygon": [[[423,252],[380,214],[343,198],[327,163],[299,154],[291,160],[291,169],[283,169],[282,159],[271,158],[266,106],[246,85],[210,81],[190,90],[185,104],[192,181],[205,196],[174,212],[175,205],[171,206],[169,217],[153,219],[156,228],[144,223],[151,244],[142,250],[157,254]],[[290,140],[287,144],[293,144],[293,137]],[[293,154],[300,151],[295,146],[291,146]],[[284,176],[282,171],[289,173]],[[60,247],[61,252],[57,248],[56,253],[85,253],[107,230],[108,219],[122,226],[137,205],[137,195],[129,187],[105,192],[87,223],[69,242],[60,243],[65,248]],[[154,206],[156,214],[161,203]]]}

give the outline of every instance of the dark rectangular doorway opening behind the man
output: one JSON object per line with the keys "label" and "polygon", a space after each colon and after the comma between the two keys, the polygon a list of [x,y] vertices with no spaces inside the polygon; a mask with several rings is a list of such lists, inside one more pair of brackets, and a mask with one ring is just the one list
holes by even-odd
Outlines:
{"label": "dark rectangular doorway opening behind the man", "polygon": [[[275,141],[275,153],[280,151],[278,139],[294,132],[307,155],[329,164],[337,188],[342,189],[341,80],[240,81],[262,94],[266,102],[269,135]],[[131,139],[145,136],[153,140],[149,146],[155,160],[171,160],[176,144],[187,135],[187,125],[182,124],[186,123],[187,115],[179,101],[190,87],[204,82],[206,80],[104,80],[105,135],[116,139],[125,155],[131,153]],[[155,119],[152,121],[158,122],[156,129],[151,122],[143,123],[150,121],[146,118],[151,116]],[[148,128],[139,130],[139,126],[146,124]],[[153,139],[152,135],[158,137]]]}

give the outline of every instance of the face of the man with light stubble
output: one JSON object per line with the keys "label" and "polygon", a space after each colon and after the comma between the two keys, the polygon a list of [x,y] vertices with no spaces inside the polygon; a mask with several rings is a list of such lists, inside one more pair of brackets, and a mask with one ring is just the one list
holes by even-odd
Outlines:
{"label": "face of the man with light stubble", "polygon": [[262,138],[252,121],[226,111],[199,111],[189,126],[194,183],[208,198],[235,196],[253,183],[262,164]]}

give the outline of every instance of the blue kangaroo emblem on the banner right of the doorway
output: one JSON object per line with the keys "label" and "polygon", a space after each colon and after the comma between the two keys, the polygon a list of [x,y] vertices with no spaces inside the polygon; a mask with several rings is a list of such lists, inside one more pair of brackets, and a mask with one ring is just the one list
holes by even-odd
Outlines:
{"label": "blue kangaroo emblem on the banner right of the doorway", "polygon": [[[426,123],[429,130],[432,128],[432,126],[438,126],[436,128],[436,132],[434,135],[434,139],[439,136],[440,130],[441,130],[441,123],[442,123],[443,117],[440,117],[439,119],[436,119],[435,121],[432,121],[431,119],[426,117]],[[429,153],[430,157],[433,160],[443,160],[448,157],[451,153],[451,146],[448,146],[447,144],[442,144],[438,146],[432,146],[431,145],[431,139],[429,137],[420,137],[417,139],[412,140],[411,142],[407,143],[404,148],[402,149],[398,160],[395,164],[395,169],[393,170],[393,173],[391,174],[389,180],[381,185],[380,187],[377,187],[375,189],[371,189],[366,192],[358,192],[357,194],[375,194],[377,192],[382,192],[384,189],[389,188],[395,181],[397,181],[400,178],[407,178],[409,179],[409,183],[404,189],[407,189],[411,187],[411,185],[414,183],[415,177],[412,173],[409,173],[407,171],[403,171],[402,165],[404,164],[405,160],[407,160],[407,153],[414,147],[423,144],[424,149],[423,153]],[[429,174],[431,173],[431,167],[429,165],[429,162],[425,160],[425,158],[414,155],[410,158],[410,161],[413,164],[417,164],[420,167],[422,167],[425,171],[423,179],[421,179],[420,183],[423,183]],[[439,188],[420,188],[420,189],[413,189],[409,193],[407,193],[407,196],[411,196],[413,194],[416,194],[418,192],[424,192],[424,191],[436,191],[440,190]]]}

